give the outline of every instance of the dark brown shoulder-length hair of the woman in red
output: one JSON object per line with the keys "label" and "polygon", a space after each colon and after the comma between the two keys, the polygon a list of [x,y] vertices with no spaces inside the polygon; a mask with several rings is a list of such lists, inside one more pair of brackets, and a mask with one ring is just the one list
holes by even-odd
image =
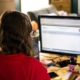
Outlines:
{"label": "dark brown shoulder-length hair of the woman in red", "polygon": [[29,17],[18,11],[6,11],[1,17],[1,49],[4,54],[34,52],[30,33],[32,26]]}

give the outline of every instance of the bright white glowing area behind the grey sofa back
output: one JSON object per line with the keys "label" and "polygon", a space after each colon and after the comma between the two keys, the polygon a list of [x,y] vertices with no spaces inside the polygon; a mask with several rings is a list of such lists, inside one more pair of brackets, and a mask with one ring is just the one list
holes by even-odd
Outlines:
{"label": "bright white glowing area behind the grey sofa back", "polygon": [[21,11],[38,10],[49,5],[49,0],[21,0]]}

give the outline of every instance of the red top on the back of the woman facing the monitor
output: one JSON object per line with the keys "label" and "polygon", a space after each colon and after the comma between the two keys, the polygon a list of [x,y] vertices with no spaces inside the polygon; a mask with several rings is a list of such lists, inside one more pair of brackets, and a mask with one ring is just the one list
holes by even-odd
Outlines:
{"label": "red top on the back of the woman facing the monitor", "polygon": [[[46,73],[46,74],[45,74]],[[0,80],[49,80],[46,69],[23,53],[0,54]]]}

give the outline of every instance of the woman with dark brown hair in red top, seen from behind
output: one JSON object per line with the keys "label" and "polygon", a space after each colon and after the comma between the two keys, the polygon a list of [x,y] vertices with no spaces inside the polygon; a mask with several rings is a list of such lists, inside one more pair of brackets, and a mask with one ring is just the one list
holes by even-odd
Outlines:
{"label": "woman with dark brown hair in red top, seen from behind", "polygon": [[27,15],[6,11],[0,21],[0,80],[50,80],[35,58],[31,22]]}

